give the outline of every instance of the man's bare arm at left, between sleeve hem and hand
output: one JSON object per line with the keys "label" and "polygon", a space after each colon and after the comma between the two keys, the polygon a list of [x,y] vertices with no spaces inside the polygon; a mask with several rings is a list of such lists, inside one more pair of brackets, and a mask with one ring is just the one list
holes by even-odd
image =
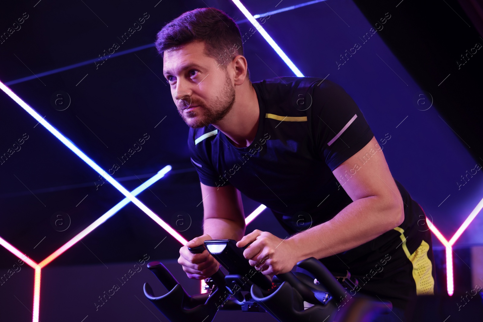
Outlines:
{"label": "man's bare arm at left, between sleeve hem and hand", "polygon": [[245,215],[241,194],[232,185],[211,187],[201,184],[203,232],[213,239],[240,240],[245,234]]}

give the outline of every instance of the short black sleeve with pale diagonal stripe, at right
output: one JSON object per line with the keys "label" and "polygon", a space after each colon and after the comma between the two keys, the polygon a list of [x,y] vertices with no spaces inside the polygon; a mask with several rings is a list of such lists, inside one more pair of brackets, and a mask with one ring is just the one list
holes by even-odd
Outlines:
{"label": "short black sleeve with pale diagonal stripe, at right", "polygon": [[339,84],[326,80],[316,85],[311,109],[314,144],[319,157],[333,171],[366,146],[374,134]]}

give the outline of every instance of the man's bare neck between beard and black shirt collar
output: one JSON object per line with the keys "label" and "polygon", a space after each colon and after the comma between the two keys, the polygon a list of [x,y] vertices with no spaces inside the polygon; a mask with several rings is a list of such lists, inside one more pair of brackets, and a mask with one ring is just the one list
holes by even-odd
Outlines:
{"label": "man's bare neck between beard and black shirt collar", "polygon": [[213,126],[222,131],[234,146],[244,148],[255,140],[260,109],[255,88],[249,83],[240,86],[246,87],[235,88],[236,98],[231,111]]}

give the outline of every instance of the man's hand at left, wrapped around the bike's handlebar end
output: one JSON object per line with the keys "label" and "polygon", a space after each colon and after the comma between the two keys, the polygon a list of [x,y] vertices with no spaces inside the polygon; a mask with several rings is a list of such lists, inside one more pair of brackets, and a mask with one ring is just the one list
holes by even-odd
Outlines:
{"label": "man's hand at left, wrapped around the bike's handlebar end", "polygon": [[213,238],[208,234],[204,234],[191,239],[185,246],[180,248],[180,258],[178,258],[178,263],[183,266],[183,270],[188,278],[204,280],[211,277],[218,270],[220,264],[206,249],[199,254],[193,254],[188,250],[188,247],[193,248],[199,245],[204,245],[203,242],[209,239]]}

